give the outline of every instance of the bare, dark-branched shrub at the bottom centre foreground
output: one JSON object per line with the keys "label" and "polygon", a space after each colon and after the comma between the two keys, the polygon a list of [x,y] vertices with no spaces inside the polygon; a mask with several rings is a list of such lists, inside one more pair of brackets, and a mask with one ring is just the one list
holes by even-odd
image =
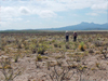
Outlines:
{"label": "bare, dark-branched shrub at the bottom centre foreground", "polygon": [[71,67],[68,64],[67,66],[64,66],[63,60],[57,60],[57,65],[54,65],[53,67],[51,67],[51,63],[49,62],[48,69],[50,72],[46,75],[52,81],[68,81],[76,73],[75,71],[71,71]]}

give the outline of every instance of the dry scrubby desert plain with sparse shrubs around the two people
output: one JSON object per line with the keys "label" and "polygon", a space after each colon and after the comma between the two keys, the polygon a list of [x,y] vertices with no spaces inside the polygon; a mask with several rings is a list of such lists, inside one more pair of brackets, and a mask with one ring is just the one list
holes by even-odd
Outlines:
{"label": "dry scrubby desert plain with sparse shrubs around the two people", "polygon": [[108,81],[108,31],[1,33],[0,81]]}

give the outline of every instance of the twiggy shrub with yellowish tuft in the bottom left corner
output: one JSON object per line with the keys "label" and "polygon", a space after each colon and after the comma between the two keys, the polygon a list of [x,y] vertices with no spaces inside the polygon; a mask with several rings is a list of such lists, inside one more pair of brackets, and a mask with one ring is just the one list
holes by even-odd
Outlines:
{"label": "twiggy shrub with yellowish tuft in the bottom left corner", "polygon": [[11,65],[10,58],[2,58],[1,62],[1,72],[4,76],[3,81],[13,81],[14,78],[21,75],[21,71],[18,69],[14,69]]}

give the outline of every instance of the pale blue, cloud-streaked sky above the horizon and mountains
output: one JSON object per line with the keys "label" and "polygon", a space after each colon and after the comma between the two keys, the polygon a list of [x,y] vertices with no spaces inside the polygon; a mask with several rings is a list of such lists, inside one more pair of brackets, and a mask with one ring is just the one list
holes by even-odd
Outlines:
{"label": "pale blue, cloud-streaked sky above the horizon and mountains", "polygon": [[0,30],[108,23],[108,0],[0,0]]}

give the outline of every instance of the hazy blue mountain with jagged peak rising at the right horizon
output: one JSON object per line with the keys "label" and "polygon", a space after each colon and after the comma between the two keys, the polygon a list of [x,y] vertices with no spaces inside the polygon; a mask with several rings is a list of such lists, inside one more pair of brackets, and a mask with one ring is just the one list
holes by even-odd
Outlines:
{"label": "hazy blue mountain with jagged peak rising at the right horizon", "polygon": [[82,22],[81,24],[78,25],[66,26],[60,28],[50,28],[45,30],[108,30],[108,23],[100,25],[100,24]]}

